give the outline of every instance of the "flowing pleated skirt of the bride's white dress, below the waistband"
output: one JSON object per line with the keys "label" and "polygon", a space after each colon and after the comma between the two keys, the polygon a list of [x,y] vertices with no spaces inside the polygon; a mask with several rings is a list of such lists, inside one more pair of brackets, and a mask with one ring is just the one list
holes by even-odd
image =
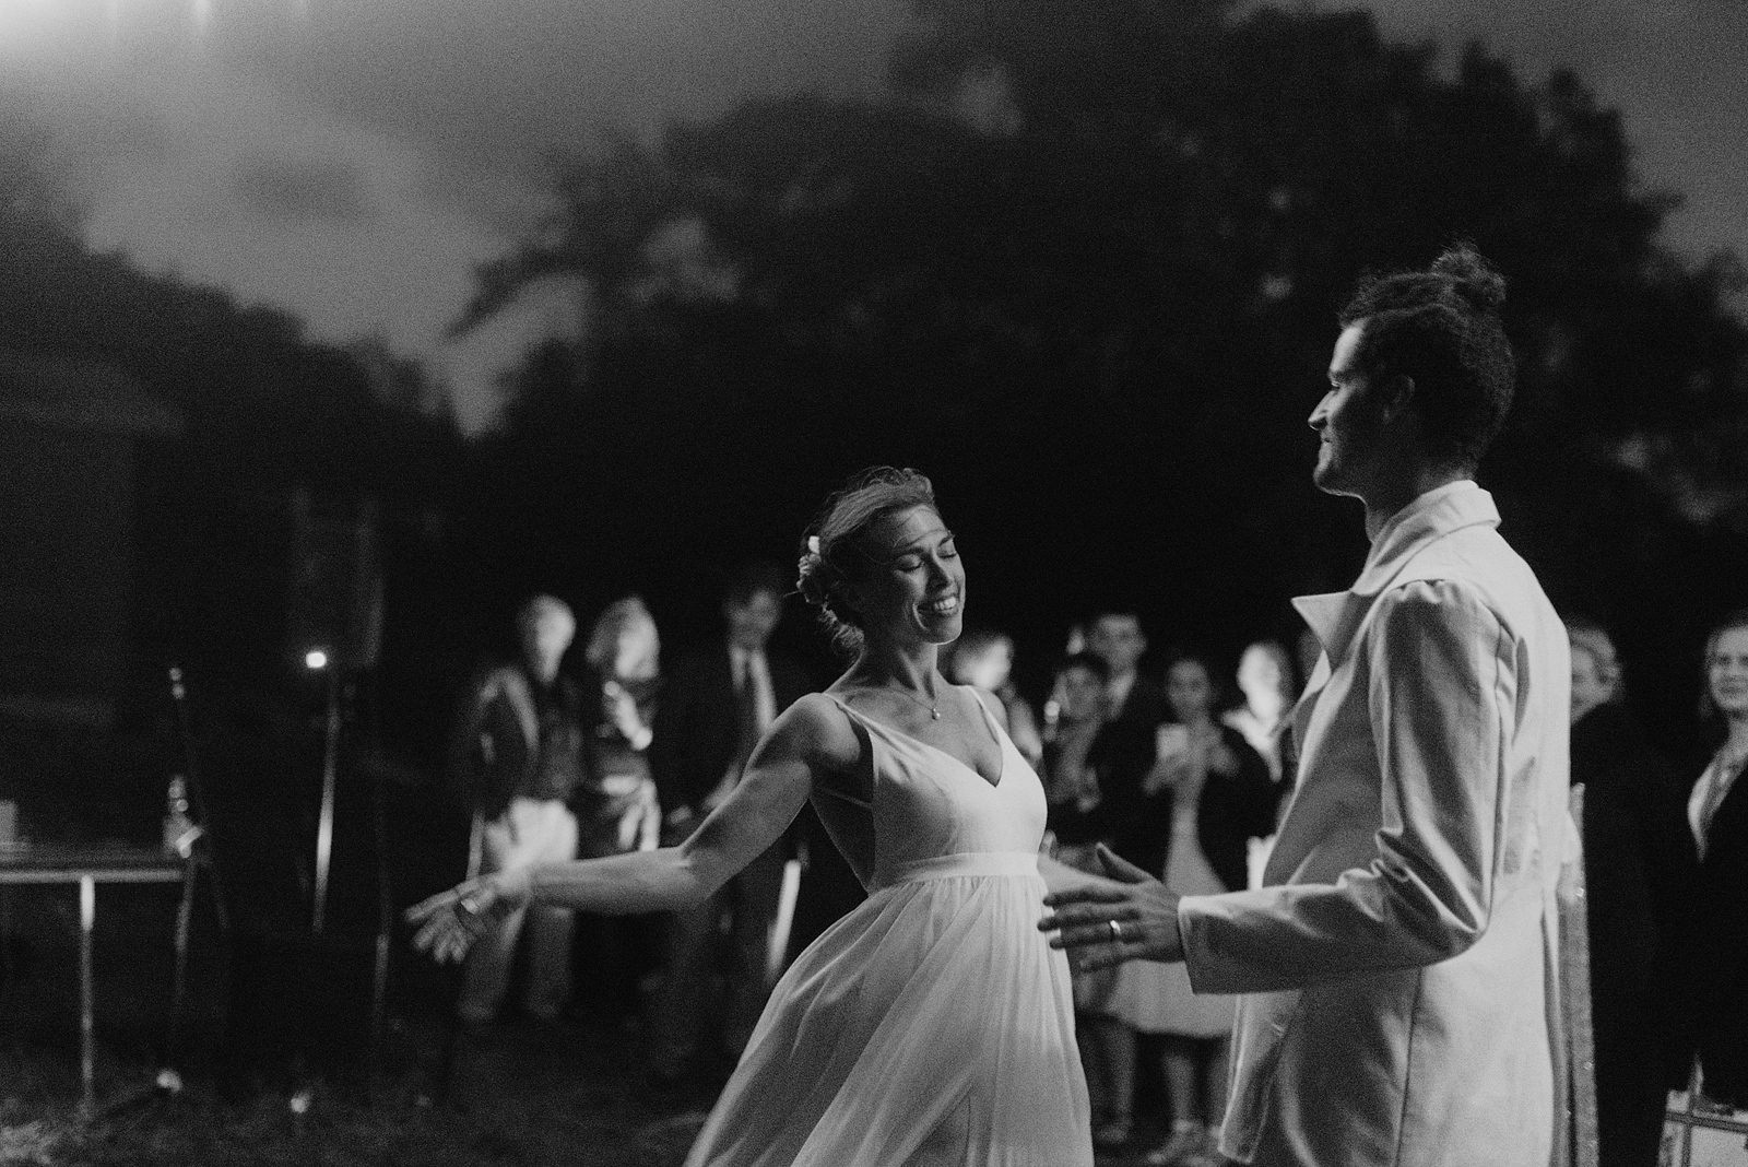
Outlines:
{"label": "flowing pleated skirt of the bride's white dress, below the waistband", "polygon": [[1091,1167],[1044,894],[1024,853],[898,872],[778,982],[687,1167]]}

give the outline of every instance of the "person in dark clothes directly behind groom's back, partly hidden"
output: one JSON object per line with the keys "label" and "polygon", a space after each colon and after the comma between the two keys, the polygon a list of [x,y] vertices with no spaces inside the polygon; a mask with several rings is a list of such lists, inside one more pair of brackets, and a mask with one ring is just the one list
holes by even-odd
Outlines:
{"label": "person in dark clothes directly behind groom's back, partly hidden", "polygon": [[1566,620],[1571,783],[1584,784],[1585,917],[1601,1167],[1654,1167],[1671,1088],[1687,1081],[1676,943],[1694,842],[1682,790],[1622,702],[1615,643]]}

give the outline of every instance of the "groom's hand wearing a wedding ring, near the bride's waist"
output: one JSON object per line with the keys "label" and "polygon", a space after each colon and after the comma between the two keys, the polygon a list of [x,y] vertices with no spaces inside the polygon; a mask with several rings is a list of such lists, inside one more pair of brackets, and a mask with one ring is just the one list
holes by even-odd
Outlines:
{"label": "groom's hand wearing a wedding ring, near the bride's waist", "polygon": [[1044,898],[1051,915],[1038,921],[1038,929],[1058,933],[1051,947],[1066,949],[1079,970],[1122,961],[1182,961],[1178,896],[1105,844],[1098,847],[1098,860],[1113,882]]}

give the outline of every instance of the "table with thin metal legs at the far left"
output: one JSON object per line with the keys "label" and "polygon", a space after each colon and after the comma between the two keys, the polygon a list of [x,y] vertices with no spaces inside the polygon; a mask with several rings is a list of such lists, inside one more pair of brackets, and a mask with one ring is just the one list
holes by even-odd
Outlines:
{"label": "table with thin metal legs at the far left", "polygon": [[[98,922],[98,884],[182,884],[177,908],[175,984],[171,989],[171,1025],[182,1006],[189,957],[189,921],[194,910],[192,860],[177,853],[129,846],[56,846],[28,844],[0,847],[0,886],[7,884],[79,884],[79,1076],[80,1108],[96,1111],[94,999],[91,978],[91,936]],[[170,1048],[166,1046],[166,1055]]]}

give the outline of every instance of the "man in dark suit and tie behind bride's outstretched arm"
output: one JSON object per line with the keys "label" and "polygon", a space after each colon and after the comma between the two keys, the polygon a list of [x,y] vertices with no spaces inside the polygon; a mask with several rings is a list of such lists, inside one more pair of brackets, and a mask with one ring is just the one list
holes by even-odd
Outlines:
{"label": "man in dark suit and tie behind bride's outstretched arm", "polygon": [[[748,564],[722,599],[725,634],[683,659],[662,688],[650,742],[650,767],[662,804],[668,842],[690,835],[739,783],[753,744],[776,716],[808,692],[801,666],[766,657],[766,641],[783,617],[783,575],[774,564]],[[780,840],[722,891],[673,917],[668,971],[661,989],[650,1064],[676,1078],[706,1055],[704,1017],[722,1017],[724,1052],[739,1055],[752,1036],[771,984],[773,926],[790,844]],[[711,1006],[715,936],[729,921],[727,1003]]]}

